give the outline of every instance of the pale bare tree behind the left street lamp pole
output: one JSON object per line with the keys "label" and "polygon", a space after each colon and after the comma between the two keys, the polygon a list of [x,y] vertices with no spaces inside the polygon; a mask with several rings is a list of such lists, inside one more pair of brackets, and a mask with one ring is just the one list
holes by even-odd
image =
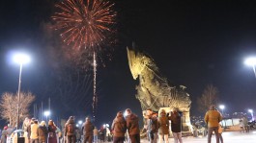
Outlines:
{"label": "pale bare tree behind the left street lamp pole", "polygon": [[[29,107],[35,100],[35,96],[31,92],[20,92],[20,121],[29,115]],[[17,119],[17,93],[5,92],[2,94],[0,101],[0,116],[14,127]]]}

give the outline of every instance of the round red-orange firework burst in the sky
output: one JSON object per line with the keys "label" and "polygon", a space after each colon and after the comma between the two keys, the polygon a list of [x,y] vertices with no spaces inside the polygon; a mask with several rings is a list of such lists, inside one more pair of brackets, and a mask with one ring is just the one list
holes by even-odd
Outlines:
{"label": "round red-orange firework burst in the sky", "polygon": [[55,30],[60,31],[63,41],[72,48],[92,48],[104,42],[115,23],[114,4],[104,0],[66,0],[56,5],[52,19]]}

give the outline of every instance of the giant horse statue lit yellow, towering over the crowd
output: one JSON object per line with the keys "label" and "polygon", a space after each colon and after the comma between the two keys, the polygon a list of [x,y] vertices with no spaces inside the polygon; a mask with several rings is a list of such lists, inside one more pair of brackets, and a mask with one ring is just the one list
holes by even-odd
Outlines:
{"label": "giant horse statue lit yellow, towering over the crowd", "polygon": [[127,50],[131,75],[134,80],[139,79],[135,96],[139,100],[142,110],[151,107],[155,111],[160,108],[167,108],[166,111],[170,111],[173,107],[178,107],[184,112],[183,123],[184,127],[187,127],[185,131],[191,131],[189,118],[191,100],[189,94],[185,92],[186,87],[170,85],[167,79],[159,74],[153,59],[135,51],[134,48],[132,50],[127,48]]}

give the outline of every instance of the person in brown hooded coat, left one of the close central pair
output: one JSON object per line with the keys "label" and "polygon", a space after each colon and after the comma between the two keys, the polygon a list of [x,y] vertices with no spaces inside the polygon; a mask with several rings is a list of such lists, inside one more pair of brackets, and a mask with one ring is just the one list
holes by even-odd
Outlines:
{"label": "person in brown hooded coat, left one of the close central pair", "polygon": [[127,122],[122,111],[117,112],[117,116],[113,120],[111,130],[113,131],[113,142],[124,143],[125,133],[127,131]]}

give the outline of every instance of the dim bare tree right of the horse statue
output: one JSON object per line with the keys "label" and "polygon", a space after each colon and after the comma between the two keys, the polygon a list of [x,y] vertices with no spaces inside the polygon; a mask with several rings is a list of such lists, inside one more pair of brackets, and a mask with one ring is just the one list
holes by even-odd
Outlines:
{"label": "dim bare tree right of the horse statue", "polygon": [[215,105],[217,102],[218,89],[209,84],[206,86],[201,97],[197,98],[198,110],[205,112],[211,105]]}

